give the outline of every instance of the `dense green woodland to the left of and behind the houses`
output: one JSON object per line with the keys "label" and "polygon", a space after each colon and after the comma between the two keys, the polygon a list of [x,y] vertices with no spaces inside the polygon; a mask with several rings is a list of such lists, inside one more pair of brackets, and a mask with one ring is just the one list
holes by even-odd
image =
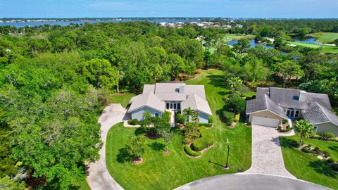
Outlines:
{"label": "dense green woodland to the left of and behind the houses", "polygon": [[138,93],[143,84],[184,80],[196,69],[224,70],[235,91],[299,87],[327,93],[337,105],[336,56],[308,48],[282,54],[251,48],[246,39],[232,48],[223,42],[226,32],[234,31],[149,22],[0,27],[1,180],[25,176],[40,186],[69,188],[84,176],[84,163],[99,158],[97,119],[111,93]]}

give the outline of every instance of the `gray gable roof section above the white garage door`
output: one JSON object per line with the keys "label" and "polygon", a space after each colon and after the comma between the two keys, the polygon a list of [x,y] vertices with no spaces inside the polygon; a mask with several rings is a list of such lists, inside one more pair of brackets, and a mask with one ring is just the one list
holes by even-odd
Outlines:
{"label": "gray gable roof section above the white garage door", "polygon": [[269,99],[267,94],[258,99],[246,101],[246,114],[254,113],[261,110],[270,110],[271,112],[280,115],[282,118],[287,118],[284,109]]}

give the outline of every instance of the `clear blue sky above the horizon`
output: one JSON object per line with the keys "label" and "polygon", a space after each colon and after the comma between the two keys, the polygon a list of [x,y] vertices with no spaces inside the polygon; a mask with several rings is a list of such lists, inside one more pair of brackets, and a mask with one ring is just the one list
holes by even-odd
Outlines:
{"label": "clear blue sky above the horizon", "polygon": [[338,18],[338,0],[0,0],[0,18]]}

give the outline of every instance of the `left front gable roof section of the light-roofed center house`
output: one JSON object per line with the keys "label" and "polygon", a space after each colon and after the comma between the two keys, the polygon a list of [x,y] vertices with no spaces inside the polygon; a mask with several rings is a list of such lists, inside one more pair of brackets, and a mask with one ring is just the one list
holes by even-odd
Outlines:
{"label": "left front gable roof section of the light-roofed center house", "polygon": [[137,110],[142,107],[149,107],[153,108],[155,110],[164,112],[165,111],[165,102],[161,101],[161,99],[158,99],[157,96],[155,96],[153,91],[149,91],[146,94],[139,94],[137,96],[132,97],[131,99],[132,105],[130,105],[130,108],[128,110],[128,113],[132,112],[133,110]]}

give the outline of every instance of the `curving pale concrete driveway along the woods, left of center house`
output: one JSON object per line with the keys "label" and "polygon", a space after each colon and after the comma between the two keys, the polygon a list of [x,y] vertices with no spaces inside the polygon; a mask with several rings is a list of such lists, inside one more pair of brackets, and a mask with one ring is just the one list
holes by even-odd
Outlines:
{"label": "curving pale concrete driveway along the woods, left of center house", "polygon": [[120,103],[113,103],[104,109],[104,113],[99,118],[101,124],[101,140],[104,142],[99,151],[100,159],[95,163],[89,164],[89,176],[87,182],[93,190],[123,189],[120,184],[115,182],[106,167],[106,137],[108,130],[118,122],[123,121],[127,110]]}

